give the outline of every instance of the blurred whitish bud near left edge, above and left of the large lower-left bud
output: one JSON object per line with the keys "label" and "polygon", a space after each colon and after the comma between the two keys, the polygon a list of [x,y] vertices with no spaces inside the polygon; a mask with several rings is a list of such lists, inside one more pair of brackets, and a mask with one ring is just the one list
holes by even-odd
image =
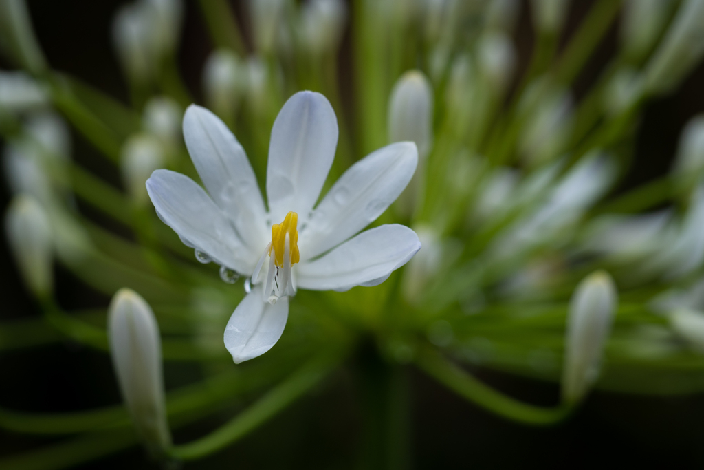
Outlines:
{"label": "blurred whitish bud near left edge, above and left of the large lower-left bud", "polygon": [[5,215],[5,233],[25,284],[39,297],[51,294],[54,284],[54,250],[51,223],[42,206],[20,194]]}

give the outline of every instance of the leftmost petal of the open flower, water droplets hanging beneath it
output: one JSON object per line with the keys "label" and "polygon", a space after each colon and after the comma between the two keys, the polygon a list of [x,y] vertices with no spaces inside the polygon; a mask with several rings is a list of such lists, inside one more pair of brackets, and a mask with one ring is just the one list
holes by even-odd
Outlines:
{"label": "leftmost petal of the open flower, water droplets hanging beneath it", "polygon": [[232,222],[194,180],[169,170],[157,170],[146,190],[159,218],[186,245],[205,252],[218,264],[251,274],[258,256],[246,249]]}

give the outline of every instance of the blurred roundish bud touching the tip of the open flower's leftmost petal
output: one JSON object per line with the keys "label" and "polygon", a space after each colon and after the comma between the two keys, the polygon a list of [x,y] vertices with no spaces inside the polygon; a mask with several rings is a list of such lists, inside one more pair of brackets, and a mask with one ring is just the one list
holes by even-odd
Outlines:
{"label": "blurred roundish bud touching the tip of the open flower's leftmost petal", "polygon": [[122,181],[135,201],[139,203],[149,201],[146,180],[154,170],[163,168],[165,160],[161,142],[152,135],[133,135],[125,142],[120,156]]}

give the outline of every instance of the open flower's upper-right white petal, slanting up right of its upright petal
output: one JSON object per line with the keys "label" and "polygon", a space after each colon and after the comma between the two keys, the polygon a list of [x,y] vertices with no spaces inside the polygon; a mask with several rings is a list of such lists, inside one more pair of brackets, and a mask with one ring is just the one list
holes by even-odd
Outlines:
{"label": "open flower's upper-right white petal, slanting up right of its upright petal", "polygon": [[351,166],[301,232],[298,247],[303,260],[326,252],[375,221],[408,185],[417,163],[415,144],[398,142]]}

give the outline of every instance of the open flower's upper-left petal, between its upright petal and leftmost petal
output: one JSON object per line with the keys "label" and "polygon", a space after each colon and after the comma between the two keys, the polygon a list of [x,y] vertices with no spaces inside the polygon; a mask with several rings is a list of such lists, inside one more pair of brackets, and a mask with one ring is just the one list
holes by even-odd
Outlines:
{"label": "open flower's upper-left petal, between its upright petal and leftmost petal", "polygon": [[232,219],[241,240],[261,249],[267,237],[264,200],[237,138],[218,116],[195,104],[184,115],[183,137],[210,197]]}

